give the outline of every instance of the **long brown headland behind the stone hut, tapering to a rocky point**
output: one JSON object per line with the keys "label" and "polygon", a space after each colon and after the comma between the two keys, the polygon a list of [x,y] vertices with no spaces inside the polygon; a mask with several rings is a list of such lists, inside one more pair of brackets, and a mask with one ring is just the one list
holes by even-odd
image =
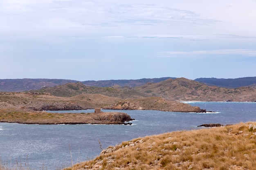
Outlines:
{"label": "long brown headland behind the stone hut, tapering to a rocky point", "polygon": [[[113,108],[113,106],[121,106]],[[126,106],[126,107],[125,107]],[[24,110],[84,110],[93,108],[119,110],[163,110],[176,112],[205,112],[197,106],[173,102],[161,97],[144,97],[141,99],[121,99],[101,94],[81,94],[73,97],[56,97],[45,93],[4,92],[0,93],[1,109]],[[10,111],[11,112],[11,111]]]}

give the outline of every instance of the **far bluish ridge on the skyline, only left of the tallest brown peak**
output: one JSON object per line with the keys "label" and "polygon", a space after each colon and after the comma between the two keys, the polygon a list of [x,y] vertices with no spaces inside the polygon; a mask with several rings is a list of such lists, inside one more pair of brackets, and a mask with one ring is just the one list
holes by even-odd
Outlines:
{"label": "far bluish ridge on the skyline, only left of the tallest brown peak", "polygon": [[[153,78],[153,79],[135,79],[135,80],[100,80],[100,81],[83,81],[86,86],[111,87],[111,86],[142,86],[148,82],[162,82],[170,77]],[[70,79],[0,79],[0,91],[3,92],[22,92],[29,90],[38,90],[44,87],[54,87],[67,83],[79,82]]]}

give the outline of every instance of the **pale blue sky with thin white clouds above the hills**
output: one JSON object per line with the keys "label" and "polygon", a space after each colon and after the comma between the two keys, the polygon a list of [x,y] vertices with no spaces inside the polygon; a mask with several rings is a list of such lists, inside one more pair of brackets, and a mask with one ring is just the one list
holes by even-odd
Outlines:
{"label": "pale blue sky with thin white clouds above the hills", "polygon": [[256,0],[0,0],[0,79],[256,76]]}

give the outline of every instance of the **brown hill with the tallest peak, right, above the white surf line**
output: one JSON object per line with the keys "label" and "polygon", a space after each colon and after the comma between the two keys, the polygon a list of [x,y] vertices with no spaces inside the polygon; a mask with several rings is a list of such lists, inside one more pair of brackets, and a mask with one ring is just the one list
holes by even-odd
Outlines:
{"label": "brown hill with the tallest peak, right, above the white surf line", "polygon": [[167,79],[159,83],[148,83],[134,88],[136,91],[169,100],[181,101],[239,101],[255,102],[256,88],[221,88],[208,86],[186,78]]}

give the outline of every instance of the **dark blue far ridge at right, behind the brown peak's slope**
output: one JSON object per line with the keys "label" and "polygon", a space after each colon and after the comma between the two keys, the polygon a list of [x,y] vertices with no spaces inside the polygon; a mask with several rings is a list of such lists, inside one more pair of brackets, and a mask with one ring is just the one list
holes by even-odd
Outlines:
{"label": "dark blue far ridge at right, behind the brown peak's slope", "polygon": [[202,82],[211,86],[238,88],[242,86],[256,84],[256,77],[243,77],[236,79],[198,78],[195,79],[195,81]]}

